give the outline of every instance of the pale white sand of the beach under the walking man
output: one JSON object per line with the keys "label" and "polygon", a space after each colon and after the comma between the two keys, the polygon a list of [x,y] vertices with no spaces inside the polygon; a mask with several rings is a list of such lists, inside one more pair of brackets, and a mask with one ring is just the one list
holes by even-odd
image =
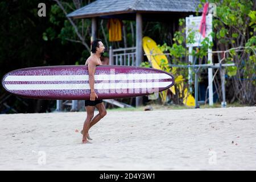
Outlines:
{"label": "pale white sand of the beach under the walking man", "polygon": [[92,144],[75,132],[85,112],[2,114],[0,169],[255,170],[255,114],[256,107],[109,111],[92,127]]}

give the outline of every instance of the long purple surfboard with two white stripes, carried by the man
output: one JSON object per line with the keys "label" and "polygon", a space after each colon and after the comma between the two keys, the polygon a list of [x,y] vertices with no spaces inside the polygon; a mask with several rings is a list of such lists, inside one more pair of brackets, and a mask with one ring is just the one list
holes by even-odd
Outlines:
{"label": "long purple surfboard with two white stripes, carried by the man", "polygon": [[[174,85],[174,76],[153,68],[98,65],[94,75],[98,99],[143,96]],[[88,67],[65,65],[17,69],[2,78],[3,87],[20,97],[89,100]]]}

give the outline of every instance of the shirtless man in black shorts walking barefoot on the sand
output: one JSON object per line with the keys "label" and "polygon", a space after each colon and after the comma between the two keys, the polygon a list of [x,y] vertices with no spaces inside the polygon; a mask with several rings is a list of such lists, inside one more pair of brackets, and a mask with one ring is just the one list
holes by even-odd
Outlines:
{"label": "shirtless man in black shorts walking barefoot on the sand", "polygon": [[[104,54],[105,47],[100,39],[96,39],[92,42],[92,55],[86,60],[85,65],[88,65],[89,85],[90,85],[90,100],[85,100],[85,110],[87,117],[84,122],[82,133],[82,143],[90,143],[89,129],[95,125],[100,119],[106,115],[105,105],[102,100],[96,100],[98,98],[94,90],[94,74],[96,72],[96,66],[102,65],[100,57]],[[94,116],[95,107],[99,113]]]}

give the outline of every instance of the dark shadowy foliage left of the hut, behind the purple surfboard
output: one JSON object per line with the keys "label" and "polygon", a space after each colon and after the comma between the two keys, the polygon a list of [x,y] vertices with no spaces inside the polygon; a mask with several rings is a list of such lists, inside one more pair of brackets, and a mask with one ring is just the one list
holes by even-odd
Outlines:
{"label": "dark shadowy foliage left of the hut, behind the purple surfboard", "polygon": [[[38,16],[35,1],[0,1],[0,77],[9,71],[27,67],[47,65],[71,65],[80,61],[84,47],[77,43],[61,44],[58,35],[67,18],[56,6],[55,1],[45,1],[46,17]],[[52,14],[52,8],[53,13]],[[53,18],[54,17],[54,18]],[[85,56],[88,55],[85,54]],[[84,61],[80,63],[84,64]],[[6,93],[0,88],[0,95]],[[14,96],[11,96],[14,97]],[[26,100],[28,106],[16,100],[7,103],[20,113],[35,112],[39,100]],[[11,100],[7,100],[9,102]],[[46,101],[48,102],[48,101]],[[54,102],[54,101],[53,101]],[[6,109],[6,107],[4,107]],[[4,110],[0,105],[0,110]]]}

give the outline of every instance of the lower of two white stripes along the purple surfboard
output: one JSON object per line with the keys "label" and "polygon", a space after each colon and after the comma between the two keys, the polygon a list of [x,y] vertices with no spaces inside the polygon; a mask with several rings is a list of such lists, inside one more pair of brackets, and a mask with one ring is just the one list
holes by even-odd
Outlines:
{"label": "lower of two white stripes along the purple surfboard", "polygon": [[[165,88],[170,82],[127,82],[94,84],[95,89]],[[89,84],[7,84],[8,90],[87,90]]]}

